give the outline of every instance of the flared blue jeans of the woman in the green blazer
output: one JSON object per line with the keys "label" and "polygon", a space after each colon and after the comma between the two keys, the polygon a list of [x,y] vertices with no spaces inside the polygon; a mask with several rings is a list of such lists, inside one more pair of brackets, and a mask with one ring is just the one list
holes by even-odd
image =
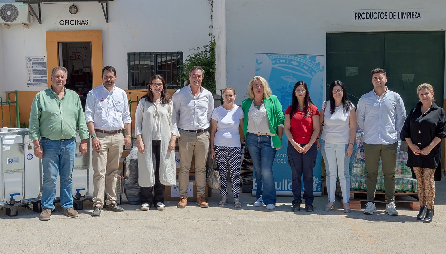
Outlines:
{"label": "flared blue jeans of the woman in the green blazer", "polygon": [[276,205],[276,184],[273,176],[276,149],[271,148],[271,137],[247,132],[245,141],[256,171],[257,199],[263,197],[265,205]]}

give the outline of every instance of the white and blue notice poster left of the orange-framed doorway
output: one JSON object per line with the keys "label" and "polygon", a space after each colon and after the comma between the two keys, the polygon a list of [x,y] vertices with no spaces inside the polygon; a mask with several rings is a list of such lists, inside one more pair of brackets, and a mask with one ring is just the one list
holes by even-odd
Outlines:
{"label": "white and blue notice poster left of the orange-framed doorway", "polygon": [[46,56],[25,57],[26,85],[28,87],[48,86]]}

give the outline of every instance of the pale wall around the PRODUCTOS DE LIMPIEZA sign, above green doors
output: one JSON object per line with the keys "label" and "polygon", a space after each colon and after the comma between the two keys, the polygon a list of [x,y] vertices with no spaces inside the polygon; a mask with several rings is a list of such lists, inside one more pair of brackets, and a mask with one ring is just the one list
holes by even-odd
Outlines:
{"label": "pale wall around the PRODUCTOS DE LIMPIEZA sign, above green doors", "polygon": [[[353,22],[357,9],[424,9],[425,19],[405,22]],[[327,32],[413,31],[446,29],[444,0],[226,2],[227,86],[245,98],[255,75],[256,53],[326,55]]]}

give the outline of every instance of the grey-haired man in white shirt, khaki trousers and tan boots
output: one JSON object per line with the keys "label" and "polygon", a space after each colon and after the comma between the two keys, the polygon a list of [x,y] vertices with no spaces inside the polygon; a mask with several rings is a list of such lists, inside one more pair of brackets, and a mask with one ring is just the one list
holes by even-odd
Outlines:
{"label": "grey-haired man in white shirt, khaki trousers and tan boots", "polygon": [[187,188],[192,155],[195,157],[195,183],[197,184],[197,205],[209,207],[205,199],[206,160],[209,154],[209,127],[214,111],[214,98],[210,91],[201,86],[204,70],[194,66],[189,71],[189,86],[173,94],[172,102],[180,128],[178,146],[180,151],[180,172],[178,183],[180,202],[178,208],[187,206]]}

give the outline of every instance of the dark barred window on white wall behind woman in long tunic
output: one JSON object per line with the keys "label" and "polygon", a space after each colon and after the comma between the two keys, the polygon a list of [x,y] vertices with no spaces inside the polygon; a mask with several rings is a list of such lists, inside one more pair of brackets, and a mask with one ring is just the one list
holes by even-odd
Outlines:
{"label": "dark barred window on white wall behind woman in long tunic", "polygon": [[128,89],[147,89],[150,78],[161,75],[167,88],[182,87],[182,52],[128,53]]}

